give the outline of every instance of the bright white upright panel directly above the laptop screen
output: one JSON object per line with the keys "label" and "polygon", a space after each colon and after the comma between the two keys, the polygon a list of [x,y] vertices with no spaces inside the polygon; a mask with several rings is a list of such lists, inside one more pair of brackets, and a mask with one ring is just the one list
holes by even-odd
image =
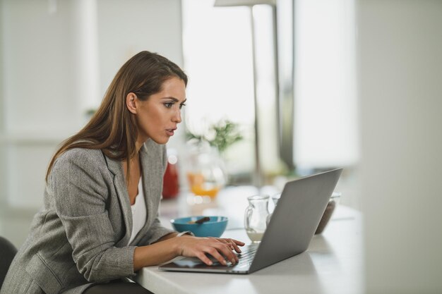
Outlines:
{"label": "bright white upright panel directly above the laptop screen", "polygon": [[359,162],[354,0],[295,1],[294,163]]}

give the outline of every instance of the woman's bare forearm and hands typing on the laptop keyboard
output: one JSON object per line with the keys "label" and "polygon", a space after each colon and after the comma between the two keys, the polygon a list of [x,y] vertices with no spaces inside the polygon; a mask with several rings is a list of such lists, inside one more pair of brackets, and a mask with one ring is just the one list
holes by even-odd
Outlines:
{"label": "woman's bare forearm and hands typing on the laptop keyboard", "polygon": [[241,252],[239,246],[244,243],[226,238],[198,238],[190,235],[176,237],[177,233],[170,233],[152,245],[136,247],[133,252],[133,271],[143,267],[161,264],[177,256],[198,257],[205,264],[211,265],[212,261],[207,255],[211,255],[221,264],[226,264],[226,259],[236,264],[238,262],[236,252]]}

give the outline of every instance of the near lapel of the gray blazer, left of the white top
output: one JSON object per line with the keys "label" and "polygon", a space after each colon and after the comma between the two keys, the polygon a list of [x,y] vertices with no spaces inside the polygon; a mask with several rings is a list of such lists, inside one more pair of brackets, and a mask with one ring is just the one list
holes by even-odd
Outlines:
{"label": "near lapel of the gray blazer, left of the white top", "polygon": [[124,238],[119,240],[117,245],[125,246],[129,242],[132,233],[132,211],[131,202],[129,201],[129,194],[127,192],[126,180],[124,178],[124,171],[121,161],[109,158],[104,155],[107,161],[107,167],[111,173],[114,174],[114,187],[117,192],[117,197],[120,203],[121,211],[123,212],[124,223],[126,225],[126,233]]}

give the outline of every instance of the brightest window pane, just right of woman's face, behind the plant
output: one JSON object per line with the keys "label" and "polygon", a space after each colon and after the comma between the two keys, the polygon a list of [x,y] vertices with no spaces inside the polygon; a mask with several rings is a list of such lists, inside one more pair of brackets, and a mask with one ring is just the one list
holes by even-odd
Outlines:
{"label": "brightest window pane, just right of woman's face, behind the plant", "polygon": [[186,126],[203,133],[229,119],[244,140],[227,150],[230,174],[253,169],[253,60],[247,7],[213,7],[212,1],[183,1],[184,68],[189,75]]}

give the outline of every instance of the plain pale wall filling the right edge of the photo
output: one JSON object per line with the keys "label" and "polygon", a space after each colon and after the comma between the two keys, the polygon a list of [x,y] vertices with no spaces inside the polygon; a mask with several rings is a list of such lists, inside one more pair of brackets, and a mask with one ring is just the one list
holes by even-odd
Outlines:
{"label": "plain pale wall filling the right edge of the photo", "polygon": [[442,1],[359,0],[366,293],[442,293]]}

